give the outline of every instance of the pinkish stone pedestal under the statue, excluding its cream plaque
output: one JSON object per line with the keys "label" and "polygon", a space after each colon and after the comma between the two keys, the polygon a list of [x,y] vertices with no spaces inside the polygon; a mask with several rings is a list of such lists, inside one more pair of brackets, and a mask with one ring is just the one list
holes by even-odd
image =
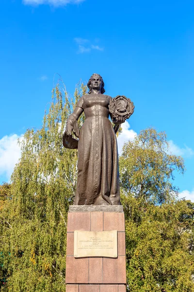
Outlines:
{"label": "pinkish stone pedestal under the statue, excluding its cream plaque", "polygon": [[[75,258],[75,230],[117,230],[117,258]],[[122,206],[70,206],[65,280],[66,292],[126,292],[125,219]]]}

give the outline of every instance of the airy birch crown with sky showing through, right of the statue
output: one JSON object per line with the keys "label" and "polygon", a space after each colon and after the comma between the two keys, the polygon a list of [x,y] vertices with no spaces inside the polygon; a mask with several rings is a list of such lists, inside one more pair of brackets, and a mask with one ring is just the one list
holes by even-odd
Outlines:
{"label": "airy birch crown with sky showing through, right of the statue", "polygon": [[124,145],[119,166],[124,194],[133,194],[143,203],[160,204],[174,197],[178,192],[172,183],[174,170],[184,172],[183,159],[168,154],[165,133],[153,128],[142,130],[133,142]]}

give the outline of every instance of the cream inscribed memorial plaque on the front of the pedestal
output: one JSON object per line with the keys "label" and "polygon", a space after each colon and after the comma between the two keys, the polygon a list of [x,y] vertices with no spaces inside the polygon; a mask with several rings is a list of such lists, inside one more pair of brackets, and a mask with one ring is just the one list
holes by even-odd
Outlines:
{"label": "cream inscribed memorial plaque on the front of the pedestal", "polygon": [[117,230],[74,231],[74,257],[117,257]]}

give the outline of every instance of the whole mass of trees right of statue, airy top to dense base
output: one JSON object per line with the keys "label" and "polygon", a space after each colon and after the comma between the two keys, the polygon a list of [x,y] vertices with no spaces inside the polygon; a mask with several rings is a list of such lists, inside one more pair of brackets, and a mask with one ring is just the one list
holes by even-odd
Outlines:
{"label": "whole mass of trees right of statue, airy top to dense base", "polygon": [[129,292],[194,290],[194,204],[176,200],[174,170],[183,173],[184,162],[169,153],[163,132],[142,130],[123,147]]}

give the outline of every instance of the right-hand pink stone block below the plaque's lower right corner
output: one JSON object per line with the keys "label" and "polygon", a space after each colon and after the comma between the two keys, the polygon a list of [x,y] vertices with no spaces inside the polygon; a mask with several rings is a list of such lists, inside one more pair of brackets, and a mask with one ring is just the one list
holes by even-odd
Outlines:
{"label": "right-hand pink stone block below the plaque's lower right corner", "polygon": [[102,275],[104,284],[126,284],[126,257],[104,257]]}

